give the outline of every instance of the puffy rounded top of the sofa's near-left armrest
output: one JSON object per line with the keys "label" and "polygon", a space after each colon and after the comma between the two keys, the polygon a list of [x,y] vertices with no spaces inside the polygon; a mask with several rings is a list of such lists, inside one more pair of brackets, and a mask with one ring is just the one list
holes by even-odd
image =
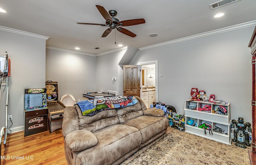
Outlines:
{"label": "puffy rounded top of the sofa's near-left armrest", "polygon": [[65,145],[73,152],[83,151],[97,144],[97,137],[87,130],[72,131],[65,137]]}

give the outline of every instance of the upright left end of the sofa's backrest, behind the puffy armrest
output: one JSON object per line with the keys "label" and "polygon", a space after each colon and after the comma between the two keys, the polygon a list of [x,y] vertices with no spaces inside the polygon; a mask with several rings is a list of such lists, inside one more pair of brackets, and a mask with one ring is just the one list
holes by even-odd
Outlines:
{"label": "upright left end of the sofa's backrest, behind the puffy armrest", "polygon": [[66,137],[69,132],[79,129],[76,106],[65,107],[62,121],[62,135]]}

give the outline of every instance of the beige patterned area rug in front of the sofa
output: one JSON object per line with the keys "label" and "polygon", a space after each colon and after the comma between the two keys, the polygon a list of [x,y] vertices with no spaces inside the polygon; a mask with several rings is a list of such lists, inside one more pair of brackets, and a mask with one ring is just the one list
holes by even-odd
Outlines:
{"label": "beige patterned area rug in front of the sofa", "polygon": [[162,137],[120,165],[250,165],[248,149],[168,127]]}

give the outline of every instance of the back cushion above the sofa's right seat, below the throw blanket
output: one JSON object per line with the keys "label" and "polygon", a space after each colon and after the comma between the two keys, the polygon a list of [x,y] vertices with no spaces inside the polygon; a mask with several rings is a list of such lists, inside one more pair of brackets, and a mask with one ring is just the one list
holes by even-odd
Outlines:
{"label": "back cushion above the sofa's right seat, below the throw blanket", "polygon": [[130,119],[143,115],[142,107],[139,102],[129,107],[116,109],[116,113],[119,123],[121,124]]}

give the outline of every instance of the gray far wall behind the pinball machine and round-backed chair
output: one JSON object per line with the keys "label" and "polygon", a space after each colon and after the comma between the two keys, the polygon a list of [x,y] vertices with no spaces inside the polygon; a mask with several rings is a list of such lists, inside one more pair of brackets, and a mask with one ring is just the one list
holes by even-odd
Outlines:
{"label": "gray far wall behind the pinball machine and round-backed chair", "polygon": [[84,99],[82,93],[96,90],[96,57],[46,49],[46,81],[58,82],[59,100],[64,94]]}

